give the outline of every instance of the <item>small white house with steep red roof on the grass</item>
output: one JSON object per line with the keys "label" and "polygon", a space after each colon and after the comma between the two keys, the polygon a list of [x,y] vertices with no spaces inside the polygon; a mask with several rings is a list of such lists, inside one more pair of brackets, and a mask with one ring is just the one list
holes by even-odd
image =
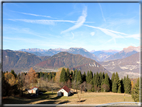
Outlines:
{"label": "small white house with steep red roof on the grass", "polygon": [[57,92],[58,96],[69,96],[71,95],[70,89],[67,86],[64,86]]}

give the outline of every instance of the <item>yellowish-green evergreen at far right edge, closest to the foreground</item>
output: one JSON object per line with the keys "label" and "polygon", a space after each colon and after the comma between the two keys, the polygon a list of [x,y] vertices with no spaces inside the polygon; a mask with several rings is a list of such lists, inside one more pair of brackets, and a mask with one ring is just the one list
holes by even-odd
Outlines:
{"label": "yellowish-green evergreen at far right edge, closest to the foreground", "polygon": [[137,83],[135,84],[134,88],[132,89],[132,98],[135,102],[139,102],[139,78],[137,79]]}

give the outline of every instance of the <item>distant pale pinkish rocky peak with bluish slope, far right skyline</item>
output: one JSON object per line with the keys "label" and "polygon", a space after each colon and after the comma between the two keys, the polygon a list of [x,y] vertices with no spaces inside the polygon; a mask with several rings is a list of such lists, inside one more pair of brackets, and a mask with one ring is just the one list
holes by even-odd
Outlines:
{"label": "distant pale pinkish rocky peak with bluish slope, far right skyline", "polygon": [[137,52],[140,52],[140,47],[134,47],[134,46],[129,46],[128,48],[123,48],[122,51],[110,55],[108,58],[105,59],[105,61],[109,61],[109,60],[115,60],[115,59],[122,59],[122,58],[126,58],[128,56],[131,56]]}

